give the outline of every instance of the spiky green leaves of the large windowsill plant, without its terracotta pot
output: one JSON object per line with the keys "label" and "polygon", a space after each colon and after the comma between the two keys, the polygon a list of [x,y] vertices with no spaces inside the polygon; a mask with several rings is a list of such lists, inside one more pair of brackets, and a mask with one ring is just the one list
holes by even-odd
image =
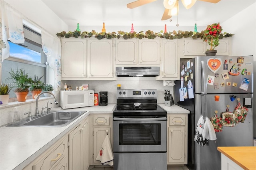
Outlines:
{"label": "spiky green leaves of the large windowsill plant, without its terracotta pot", "polygon": [[28,92],[32,79],[28,77],[28,73],[25,73],[24,69],[17,69],[16,71],[12,70],[8,72],[10,77],[7,79],[11,79],[13,81],[13,86],[17,87],[15,92]]}

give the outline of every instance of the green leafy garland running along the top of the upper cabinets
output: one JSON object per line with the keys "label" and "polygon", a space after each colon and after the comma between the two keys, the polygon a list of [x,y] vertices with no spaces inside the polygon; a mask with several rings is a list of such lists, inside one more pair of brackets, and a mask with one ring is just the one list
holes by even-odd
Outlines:
{"label": "green leafy garland running along the top of the upper cabinets", "polygon": [[[203,39],[204,37],[204,30],[202,32],[196,32],[193,34],[192,31],[178,31],[176,32],[175,30],[173,32],[166,32],[164,33],[163,31],[160,32],[156,32],[154,33],[153,31],[146,31],[144,33],[144,31],[141,31],[139,33],[137,32],[123,32],[123,31],[118,31],[118,33],[116,34],[116,32],[95,32],[94,30],[92,30],[92,32],[81,32],[75,30],[74,32],[69,31],[68,33],[66,33],[65,31],[62,31],[60,33],[56,34],[59,37],[65,37],[65,38],[70,38],[70,37],[81,37],[81,38],[90,38],[92,36],[95,36],[95,38],[97,38],[98,40],[101,40],[102,38],[107,38],[107,39],[112,39],[112,38],[124,38],[124,40],[127,39],[131,39],[131,38],[138,38],[138,39],[142,39],[142,38],[148,38],[148,39],[154,39],[156,37],[160,37],[160,38],[165,38],[167,40],[174,40],[174,39],[180,39],[180,38],[188,38],[188,37],[192,37],[194,40],[197,38],[201,38]],[[221,33],[219,36],[219,39],[223,39],[223,37],[232,37],[234,36],[234,34],[229,34],[227,32],[224,32],[223,34]]]}

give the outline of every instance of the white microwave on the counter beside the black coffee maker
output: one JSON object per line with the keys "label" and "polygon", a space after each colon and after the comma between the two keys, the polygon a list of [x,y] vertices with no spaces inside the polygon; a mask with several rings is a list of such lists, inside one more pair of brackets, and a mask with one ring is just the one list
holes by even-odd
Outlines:
{"label": "white microwave on the counter beside the black coffee maker", "polygon": [[60,107],[71,109],[94,106],[94,90],[60,91]]}

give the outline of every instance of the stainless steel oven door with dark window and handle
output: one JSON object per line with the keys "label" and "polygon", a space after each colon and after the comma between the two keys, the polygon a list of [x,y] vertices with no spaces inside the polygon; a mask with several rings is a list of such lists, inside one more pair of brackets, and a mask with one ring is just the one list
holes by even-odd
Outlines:
{"label": "stainless steel oven door with dark window and handle", "polygon": [[113,118],[114,152],[166,152],[167,117]]}

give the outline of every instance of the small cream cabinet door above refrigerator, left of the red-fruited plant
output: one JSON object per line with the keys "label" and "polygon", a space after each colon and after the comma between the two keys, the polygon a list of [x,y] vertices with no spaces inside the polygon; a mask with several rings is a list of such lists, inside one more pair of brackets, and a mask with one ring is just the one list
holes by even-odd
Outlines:
{"label": "small cream cabinet door above refrigerator, left of the red-fruited plant", "polygon": [[206,42],[203,40],[184,40],[184,55],[205,55]]}

